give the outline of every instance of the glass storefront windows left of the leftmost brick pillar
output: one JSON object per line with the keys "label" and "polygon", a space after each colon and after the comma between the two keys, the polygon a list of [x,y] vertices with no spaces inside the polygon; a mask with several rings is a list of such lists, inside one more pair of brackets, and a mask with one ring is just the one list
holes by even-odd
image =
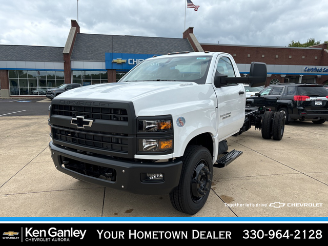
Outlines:
{"label": "glass storefront windows left of the leftmost brick pillar", "polygon": [[46,95],[47,89],[65,84],[64,71],[9,70],[10,95]]}

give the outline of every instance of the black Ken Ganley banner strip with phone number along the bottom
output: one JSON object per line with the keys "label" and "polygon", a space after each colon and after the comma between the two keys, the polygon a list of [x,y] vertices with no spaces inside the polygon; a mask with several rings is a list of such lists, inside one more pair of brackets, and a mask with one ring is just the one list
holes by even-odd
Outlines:
{"label": "black Ken Ganley banner strip with phone number along the bottom", "polygon": [[[2,223],[1,245],[9,243],[228,242],[327,240],[327,223],[150,222]],[[63,245],[63,244],[61,244]]]}

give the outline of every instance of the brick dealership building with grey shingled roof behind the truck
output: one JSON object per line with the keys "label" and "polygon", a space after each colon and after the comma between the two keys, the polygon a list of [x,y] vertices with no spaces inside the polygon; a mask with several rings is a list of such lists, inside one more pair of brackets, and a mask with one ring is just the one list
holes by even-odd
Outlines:
{"label": "brick dealership building with grey shingled roof behind the truck", "polygon": [[267,64],[266,86],[328,83],[327,44],[298,47],[201,44],[188,28],[182,38],[80,33],[76,20],[64,47],[0,45],[0,97],[45,97],[62,84],[114,83],[142,60],[177,51],[231,54],[241,76],[252,61]]}

